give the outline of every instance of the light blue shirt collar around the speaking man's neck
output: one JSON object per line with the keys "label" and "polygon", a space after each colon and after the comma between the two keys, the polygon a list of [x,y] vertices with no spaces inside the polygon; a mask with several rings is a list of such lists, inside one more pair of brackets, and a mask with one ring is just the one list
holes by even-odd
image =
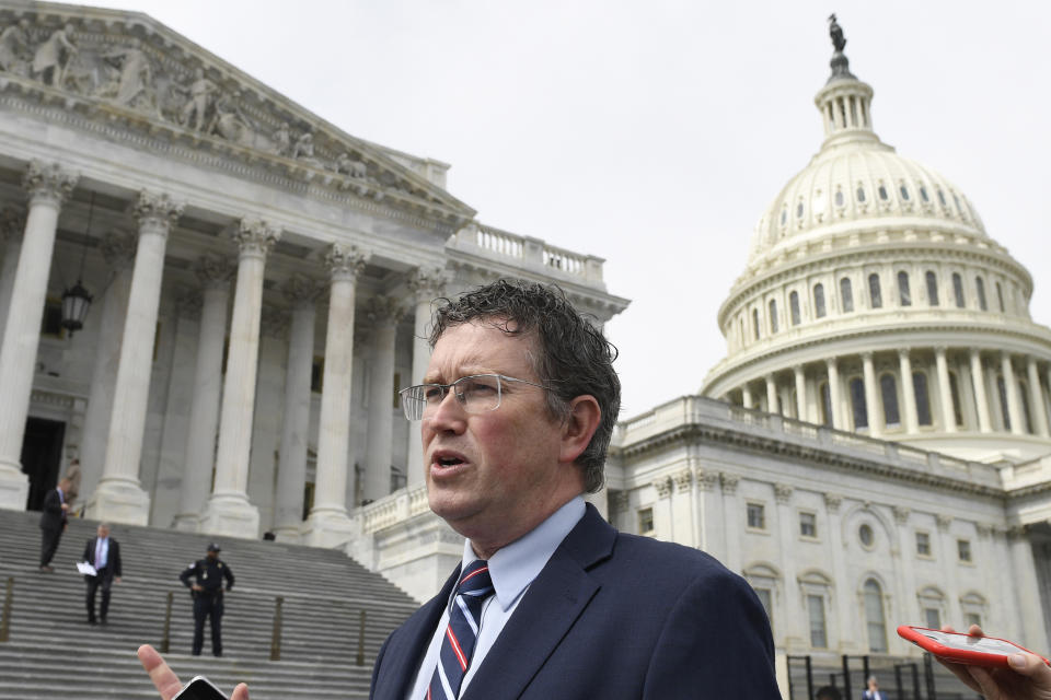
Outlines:
{"label": "light blue shirt collar around the speaking man's neck", "polygon": [[[584,498],[577,495],[552,513],[547,520],[503,547],[489,558],[489,576],[497,603],[507,611],[522,592],[533,582],[555,553],[558,545],[584,517]],[[471,540],[463,544],[461,571],[478,557],[471,548]]]}

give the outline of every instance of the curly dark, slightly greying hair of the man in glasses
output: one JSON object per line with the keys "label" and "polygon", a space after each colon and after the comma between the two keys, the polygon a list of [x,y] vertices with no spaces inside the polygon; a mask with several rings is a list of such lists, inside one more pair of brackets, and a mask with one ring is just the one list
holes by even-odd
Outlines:
{"label": "curly dark, slightly greying hair of the man in glasses", "polygon": [[550,389],[551,415],[565,420],[570,400],[586,394],[596,398],[602,411],[599,428],[576,464],[584,471],[585,490],[601,489],[605,453],[621,410],[621,381],[613,370],[616,348],[602,335],[598,320],[578,312],[555,284],[516,279],[500,279],[457,300],[439,299],[437,304],[431,348],[449,328],[476,320],[511,336],[535,332],[539,352],[533,369]]}

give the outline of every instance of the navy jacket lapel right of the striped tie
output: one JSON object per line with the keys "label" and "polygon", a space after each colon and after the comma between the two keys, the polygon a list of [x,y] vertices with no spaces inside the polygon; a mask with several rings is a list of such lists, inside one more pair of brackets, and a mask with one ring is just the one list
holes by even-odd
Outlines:
{"label": "navy jacket lapel right of the striped tie", "polygon": [[599,591],[587,570],[610,556],[615,537],[616,530],[589,504],[530,584],[471,679],[464,700],[522,693]]}

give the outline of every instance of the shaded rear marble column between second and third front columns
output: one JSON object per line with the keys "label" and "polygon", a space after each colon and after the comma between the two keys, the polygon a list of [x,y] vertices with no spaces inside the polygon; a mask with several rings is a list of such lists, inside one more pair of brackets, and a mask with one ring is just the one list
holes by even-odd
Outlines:
{"label": "shaded rear marble column between second and third front columns", "polygon": [[196,273],[201,285],[200,326],[186,435],[186,465],[178,512],[173,523],[176,529],[186,532],[197,530],[200,513],[211,491],[219,428],[219,389],[222,387],[222,346],[227,337],[233,265],[223,256],[206,255],[197,259]]}

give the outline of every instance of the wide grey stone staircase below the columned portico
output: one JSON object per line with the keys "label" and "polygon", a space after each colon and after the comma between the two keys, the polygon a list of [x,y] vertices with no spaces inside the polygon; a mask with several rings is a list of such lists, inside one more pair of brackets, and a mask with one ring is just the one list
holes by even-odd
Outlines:
{"label": "wide grey stone staircase below the columned portico", "polygon": [[[55,573],[42,573],[38,518],[0,510],[0,605],[9,578],[14,582],[10,639],[0,642],[0,700],[157,698],[135,651],[142,643],[160,649],[169,592],[165,658],[183,682],[203,674],[229,692],[244,681],[253,700],[363,699],[380,645],[417,607],[340,551],[114,525],[125,575],[113,587],[109,623],[93,627],[74,564],[97,523],[71,518]],[[236,578],[224,600],[222,658],[207,655],[207,625],[205,655],[189,654],[193,603],[177,578],[209,541],[219,542]],[[284,596],[280,661],[272,662],[277,596]]]}

